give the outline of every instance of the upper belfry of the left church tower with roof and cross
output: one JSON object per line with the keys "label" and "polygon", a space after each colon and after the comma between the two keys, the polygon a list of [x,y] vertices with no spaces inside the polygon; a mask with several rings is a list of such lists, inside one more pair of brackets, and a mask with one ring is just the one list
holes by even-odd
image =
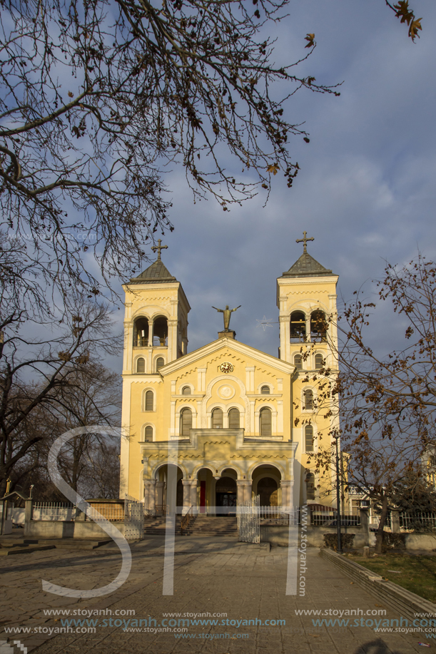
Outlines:
{"label": "upper belfry of the left church tower with roof and cross", "polygon": [[168,272],[161,251],[138,277],[123,286],[126,293],[123,374],[158,374],[164,365],[188,351],[188,312],[181,283]]}

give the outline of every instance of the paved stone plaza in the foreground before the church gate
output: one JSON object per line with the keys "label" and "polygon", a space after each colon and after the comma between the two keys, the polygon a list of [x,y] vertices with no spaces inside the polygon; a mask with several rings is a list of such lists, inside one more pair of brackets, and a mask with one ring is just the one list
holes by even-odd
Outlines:
{"label": "paved stone plaza in the foreground before the church gate", "polygon": [[[355,609],[362,612],[359,615],[386,609],[383,619],[400,618],[350,583],[350,578],[320,557],[317,548],[308,551],[305,596],[295,597],[285,596],[287,548],[268,552],[265,546],[204,537],[176,538],[174,595],[163,596],[163,547],[163,538],[156,536],[133,543],[128,581],[116,593],[91,600],[44,593],[41,579],[69,588],[105,586],[121,567],[114,544],[93,551],[55,549],[0,558],[0,641],[9,639],[10,643],[6,649],[5,644],[0,645],[2,654],[23,651],[14,640],[36,654],[412,654],[425,651],[420,642],[435,643],[430,650],[436,646],[436,639],[426,640],[425,633],[377,633],[374,627],[350,626],[366,617],[350,618],[348,626],[317,626],[313,621],[320,618],[296,615],[295,610],[302,609]],[[53,609],[70,610],[70,615],[48,615]],[[89,631],[92,624],[86,623],[84,610],[88,615],[96,610],[100,613],[88,618],[96,620],[93,633],[77,633]],[[185,632],[165,631],[163,628],[177,628],[174,625],[181,617],[164,615],[170,612],[189,614],[185,618],[197,620],[197,624],[191,623]],[[211,615],[194,618],[198,613]],[[214,618],[214,613],[220,616]],[[337,617],[324,616],[330,620]],[[70,623],[70,633],[56,633],[65,628],[65,620],[84,622]],[[198,620],[218,620],[218,624]],[[272,625],[265,625],[267,620]],[[276,625],[277,620],[284,622]],[[173,627],[168,627],[168,622]],[[32,632],[11,631],[20,625]]]}

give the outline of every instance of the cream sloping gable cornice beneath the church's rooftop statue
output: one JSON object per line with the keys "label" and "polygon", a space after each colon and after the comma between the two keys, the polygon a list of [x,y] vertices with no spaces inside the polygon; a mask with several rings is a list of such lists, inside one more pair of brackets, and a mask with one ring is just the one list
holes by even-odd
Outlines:
{"label": "cream sloping gable cornice beneath the church's rooftop statue", "polygon": [[217,354],[220,352],[220,350],[225,349],[230,350],[230,352],[233,351],[240,356],[254,359],[263,365],[275,368],[285,374],[293,374],[295,370],[295,366],[293,364],[283,361],[282,359],[277,359],[277,357],[273,357],[271,354],[260,352],[260,350],[255,349],[255,347],[251,347],[245,343],[240,343],[239,341],[231,338],[219,338],[216,341],[209,343],[208,345],[203,345],[203,347],[194,350],[194,352],[186,354],[180,359],[176,359],[176,361],[172,361],[171,363],[166,364],[166,366],[163,366],[159,372],[165,377],[167,374],[176,372],[176,370],[180,370],[183,367],[191,367],[197,361],[200,361],[205,357],[211,357],[213,354]]}

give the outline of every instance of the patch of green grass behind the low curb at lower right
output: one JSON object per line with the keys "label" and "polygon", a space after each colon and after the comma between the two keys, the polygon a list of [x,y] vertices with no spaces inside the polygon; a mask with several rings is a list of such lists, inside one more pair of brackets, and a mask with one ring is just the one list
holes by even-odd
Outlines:
{"label": "patch of green grass behind the low curb at lower right", "polygon": [[[380,554],[375,558],[350,556],[351,561],[397,583],[407,591],[436,603],[436,557]],[[393,572],[392,572],[393,571]]]}

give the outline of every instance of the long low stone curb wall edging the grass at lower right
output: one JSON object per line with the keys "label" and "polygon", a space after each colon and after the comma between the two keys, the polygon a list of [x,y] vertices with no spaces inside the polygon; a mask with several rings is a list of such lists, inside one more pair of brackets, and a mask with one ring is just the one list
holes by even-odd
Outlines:
{"label": "long low stone curb wall edging the grass at lower right", "polygon": [[[405,588],[397,586],[392,581],[383,581],[377,573],[360,566],[354,561],[348,561],[348,558],[343,554],[337,554],[328,548],[323,548],[320,555],[327,558],[328,561],[338,566],[340,570],[348,577],[353,579],[359,586],[365,588],[373,596],[380,599],[393,608],[397,613],[410,620],[416,620],[415,613],[434,615],[435,604],[425,600],[424,598],[406,591]],[[419,618],[418,624],[419,626]]]}

